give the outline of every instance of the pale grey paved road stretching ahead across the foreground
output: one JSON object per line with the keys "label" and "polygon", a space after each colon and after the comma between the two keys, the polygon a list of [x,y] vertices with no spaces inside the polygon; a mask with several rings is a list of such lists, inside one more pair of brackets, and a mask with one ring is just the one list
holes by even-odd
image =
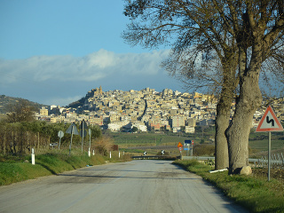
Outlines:
{"label": "pale grey paved road stretching ahead across the foreground", "polygon": [[0,187],[0,212],[246,212],[170,161],[114,163]]}

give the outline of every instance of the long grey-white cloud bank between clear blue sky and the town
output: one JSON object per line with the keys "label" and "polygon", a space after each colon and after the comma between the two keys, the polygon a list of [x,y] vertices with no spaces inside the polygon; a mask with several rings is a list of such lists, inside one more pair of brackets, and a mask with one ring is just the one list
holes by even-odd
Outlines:
{"label": "long grey-white cloud bank between clear blue sky and the town", "polygon": [[182,91],[181,83],[160,67],[168,54],[167,50],[114,53],[101,49],[84,57],[1,59],[0,94],[66,106],[100,85],[103,91],[139,91],[146,87]]}

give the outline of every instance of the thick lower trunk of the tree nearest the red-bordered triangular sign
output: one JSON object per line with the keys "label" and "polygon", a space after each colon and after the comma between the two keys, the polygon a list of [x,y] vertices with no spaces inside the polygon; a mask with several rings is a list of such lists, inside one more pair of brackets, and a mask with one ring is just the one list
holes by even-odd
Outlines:
{"label": "thick lower trunk of the tree nearest the red-bordered triangular sign", "polygon": [[262,102],[258,77],[259,70],[243,76],[235,113],[225,132],[229,147],[229,172],[231,174],[237,174],[242,167],[248,166],[248,135],[253,115]]}

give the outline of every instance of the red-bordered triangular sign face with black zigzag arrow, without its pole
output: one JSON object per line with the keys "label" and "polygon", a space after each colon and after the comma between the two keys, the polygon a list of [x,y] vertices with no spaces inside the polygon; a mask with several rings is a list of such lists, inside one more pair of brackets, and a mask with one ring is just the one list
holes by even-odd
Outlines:
{"label": "red-bordered triangular sign face with black zigzag arrow, without its pole", "polygon": [[283,127],[274,114],[272,107],[268,106],[260,120],[256,131],[282,131]]}

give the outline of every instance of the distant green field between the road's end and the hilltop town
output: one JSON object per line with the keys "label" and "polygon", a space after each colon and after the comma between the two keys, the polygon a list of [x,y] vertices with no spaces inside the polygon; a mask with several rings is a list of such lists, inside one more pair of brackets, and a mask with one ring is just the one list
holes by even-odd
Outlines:
{"label": "distant green field between the road's end and the hilltop town", "polygon": [[[125,133],[111,132],[109,136],[114,139],[114,144],[119,145],[120,149],[130,151],[128,148],[137,147],[133,153],[143,153],[150,151],[139,149],[139,146],[177,146],[178,142],[184,144],[185,140],[193,140],[194,145],[206,144],[214,145],[215,130],[213,127],[201,130],[196,128],[194,134],[183,133]],[[249,155],[257,156],[268,150],[268,133],[251,131],[249,135]],[[170,150],[171,152],[177,150]],[[150,151],[155,154],[156,151]],[[284,153],[284,132],[272,132],[272,153]],[[184,151],[185,153],[185,151]],[[178,154],[178,151],[175,152]]]}

